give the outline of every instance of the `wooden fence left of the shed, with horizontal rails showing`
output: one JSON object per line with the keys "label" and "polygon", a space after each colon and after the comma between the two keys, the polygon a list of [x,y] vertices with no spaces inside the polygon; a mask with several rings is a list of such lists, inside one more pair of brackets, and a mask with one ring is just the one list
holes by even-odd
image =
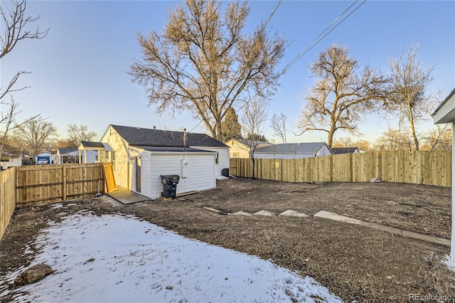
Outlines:
{"label": "wooden fence left of the shed, with horizontal rails showing", "polygon": [[104,193],[102,169],[97,163],[18,166],[0,171],[0,239],[16,207]]}

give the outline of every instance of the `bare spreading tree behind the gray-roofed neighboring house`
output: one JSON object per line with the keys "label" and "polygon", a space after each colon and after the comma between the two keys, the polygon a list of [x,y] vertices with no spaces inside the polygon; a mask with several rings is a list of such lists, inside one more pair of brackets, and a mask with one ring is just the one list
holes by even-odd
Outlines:
{"label": "bare spreading tree behind the gray-roofed neighboring house", "polygon": [[327,132],[331,148],[338,129],[359,133],[363,115],[383,100],[387,79],[368,66],[360,70],[358,61],[348,57],[348,48],[336,45],[321,52],[310,70],[316,83],[305,98],[299,128],[301,133]]}

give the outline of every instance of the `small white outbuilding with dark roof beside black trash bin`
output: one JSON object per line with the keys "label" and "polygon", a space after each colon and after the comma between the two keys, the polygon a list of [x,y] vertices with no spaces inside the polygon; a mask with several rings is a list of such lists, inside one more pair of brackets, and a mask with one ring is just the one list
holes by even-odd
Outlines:
{"label": "small white outbuilding with dark roof beside black trash bin", "polygon": [[112,162],[118,186],[149,198],[161,196],[161,175],[180,177],[178,194],[215,188],[229,169],[229,147],[207,134],[109,125],[100,142],[82,145],[97,148],[100,162]]}

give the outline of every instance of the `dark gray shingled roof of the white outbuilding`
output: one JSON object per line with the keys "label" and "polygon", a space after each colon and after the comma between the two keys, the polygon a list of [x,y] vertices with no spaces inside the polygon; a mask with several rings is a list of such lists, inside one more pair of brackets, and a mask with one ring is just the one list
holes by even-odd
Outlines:
{"label": "dark gray shingled roof of the white outbuilding", "polygon": [[[129,144],[146,147],[183,147],[183,132],[111,125]],[[187,133],[187,147],[228,147],[207,134]]]}

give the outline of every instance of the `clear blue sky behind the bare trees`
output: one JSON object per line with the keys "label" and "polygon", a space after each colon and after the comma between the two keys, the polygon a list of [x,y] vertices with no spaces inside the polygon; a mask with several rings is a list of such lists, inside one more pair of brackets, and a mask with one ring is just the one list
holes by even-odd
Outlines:
{"label": "clear blue sky behind the bare trees", "polygon": [[[137,33],[152,29],[161,32],[168,11],[180,3],[28,1],[27,14],[41,14],[40,28],[50,27],[50,31],[40,41],[20,41],[1,60],[2,86],[17,70],[33,72],[18,82],[18,86],[31,87],[14,94],[22,110],[18,121],[41,113],[55,124],[62,137],[70,123],[85,124],[98,137],[109,124],[206,132],[203,123],[190,115],[156,115],[155,108],[147,106],[144,88],[132,83],[126,73],[133,60],[140,59]],[[289,40],[278,69],[291,62],[352,3],[282,1],[267,25]],[[1,6],[7,5],[9,1],[1,0]],[[266,20],[276,5],[277,1],[250,1],[247,28]],[[333,43],[348,46],[350,55],[360,64],[384,71],[387,60],[419,43],[422,68],[434,66],[430,88],[441,89],[445,97],[455,87],[455,1],[369,0],[287,70],[272,98],[269,116],[284,112],[289,129],[297,124],[303,106],[301,97],[314,84],[308,66]],[[425,125],[429,126],[431,123]],[[366,117],[360,125],[362,139],[371,142],[386,129],[387,124],[377,115]],[[266,137],[272,139],[270,128]],[[337,132],[336,137],[347,134]],[[310,132],[295,137],[289,132],[288,139],[319,142],[326,141],[326,134]]]}

